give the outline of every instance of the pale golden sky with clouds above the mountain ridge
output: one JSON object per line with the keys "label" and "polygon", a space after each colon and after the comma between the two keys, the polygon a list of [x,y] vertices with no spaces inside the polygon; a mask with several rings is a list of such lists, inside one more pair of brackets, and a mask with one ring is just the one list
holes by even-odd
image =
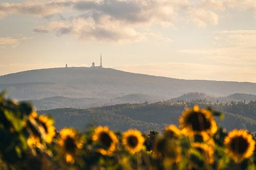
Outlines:
{"label": "pale golden sky with clouds above the mountain ridge", "polygon": [[256,83],[254,0],[0,0],[0,75],[99,65]]}

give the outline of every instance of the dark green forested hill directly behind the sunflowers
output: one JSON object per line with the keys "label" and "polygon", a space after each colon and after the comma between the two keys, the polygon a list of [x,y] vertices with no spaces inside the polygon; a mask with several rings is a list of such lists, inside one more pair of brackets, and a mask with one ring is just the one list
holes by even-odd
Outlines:
{"label": "dark green forested hill directly behind the sunflowers", "polygon": [[[141,131],[160,130],[168,124],[179,124],[179,117],[184,107],[189,104],[121,104],[90,109],[54,109],[39,111],[39,114],[51,114],[56,120],[57,129],[74,127],[84,130],[89,124],[109,126],[111,129],[124,131],[136,128]],[[212,107],[223,111],[225,118],[218,124],[230,129],[248,129],[256,131],[256,103],[236,105],[200,104],[202,108]]]}

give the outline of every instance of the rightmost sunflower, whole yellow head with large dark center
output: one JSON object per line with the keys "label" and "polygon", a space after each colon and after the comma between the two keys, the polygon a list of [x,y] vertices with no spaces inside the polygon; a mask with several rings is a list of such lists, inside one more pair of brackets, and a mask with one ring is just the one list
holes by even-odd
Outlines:
{"label": "rightmost sunflower, whole yellow head with large dark center", "polygon": [[233,130],[224,139],[225,152],[237,163],[249,158],[254,151],[255,140],[246,130]]}

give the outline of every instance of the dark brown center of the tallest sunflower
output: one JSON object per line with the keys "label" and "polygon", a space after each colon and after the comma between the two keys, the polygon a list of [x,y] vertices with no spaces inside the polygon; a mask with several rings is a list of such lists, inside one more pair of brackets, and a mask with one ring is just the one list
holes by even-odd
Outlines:
{"label": "dark brown center of the tallest sunflower", "polygon": [[204,131],[210,129],[210,122],[203,113],[193,112],[187,118],[189,124],[194,131]]}

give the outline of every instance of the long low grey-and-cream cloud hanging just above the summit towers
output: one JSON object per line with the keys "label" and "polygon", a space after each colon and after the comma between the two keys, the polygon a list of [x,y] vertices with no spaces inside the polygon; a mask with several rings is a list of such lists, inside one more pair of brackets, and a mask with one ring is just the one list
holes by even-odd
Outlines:
{"label": "long low grey-and-cream cloud hanging just above the summit towers", "polygon": [[142,33],[132,27],[124,28],[120,21],[112,21],[109,16],[98,18],[98,24],[92,18],[76,17],[68,23],[49,22],[45,26],[34,29],[35,32],[47,33],[55,31],[58,36],[71,34],[82,41],[138,41],[144,38]]}

